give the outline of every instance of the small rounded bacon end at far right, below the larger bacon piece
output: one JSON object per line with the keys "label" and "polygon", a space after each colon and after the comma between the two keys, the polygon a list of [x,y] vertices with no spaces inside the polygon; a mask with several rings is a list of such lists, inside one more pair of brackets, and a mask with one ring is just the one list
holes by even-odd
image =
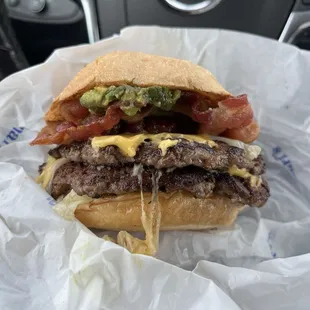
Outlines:
{"label": "small rounded bacon end at far right, below the larger bacon piece", "polygon": [[257,139],[259,132],[260,132],[259,125],[253,119],[252,122],[245,127],[225,130],[222,133],[222,136],[230,139],[240,140],[245,143],[251,143]]}

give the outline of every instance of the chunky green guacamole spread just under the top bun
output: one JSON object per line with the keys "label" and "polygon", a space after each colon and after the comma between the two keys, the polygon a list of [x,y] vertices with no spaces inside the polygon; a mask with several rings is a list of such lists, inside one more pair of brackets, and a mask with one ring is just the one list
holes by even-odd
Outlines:
{"label": "chunky green guacamole spread just under the top bun", "polygon": [[162,86],[121,85],[95,87],[83,94],[80,103],[91,113],[101,114],[107,109],[109,103],[119,101],[121,110],[128,116],[134,116],[141,108],[149,104],[170,111],[180,96],[181,91]]}

